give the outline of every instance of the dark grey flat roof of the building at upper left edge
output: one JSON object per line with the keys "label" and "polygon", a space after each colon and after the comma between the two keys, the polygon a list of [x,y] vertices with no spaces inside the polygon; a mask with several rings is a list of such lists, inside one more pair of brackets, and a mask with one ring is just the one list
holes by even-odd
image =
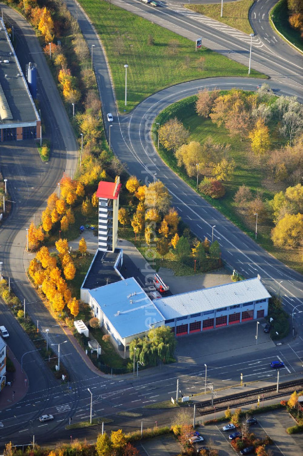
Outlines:
{"label": "dark grey flat roof of the building at upper left edge", "polygon": [[[17,126],[15,124],[34,123],[39,120],[39,115],[33,104],[26,80],[2,20],[0,27],[0,86],[12,118],[9,119],[8,116],[6,116],[6,119],[0,118],[0,127],[3,124],[9,127],[10,124]],[[8,63],[5,63],[5,61],[8,61]],[[17,74],[20,76],[17,76]],[[2,105],[4,102],[5,100],[0,100]]]}

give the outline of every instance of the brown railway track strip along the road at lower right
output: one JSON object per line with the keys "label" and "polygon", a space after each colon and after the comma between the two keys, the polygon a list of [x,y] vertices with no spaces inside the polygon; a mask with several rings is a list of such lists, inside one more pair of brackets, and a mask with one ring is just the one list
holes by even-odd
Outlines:
{"label": "brown railway track strip along the road at lower right", "polygon": [[303,379],[294,380],[291,382],[281,383],[279,385],[279,392],[277,393],[277,386],[267,386],[265,388],[254,389],[253,391],[243,391],[243,393],[231,394],[229,396],[214,398],[211,406],[211,399],[196,403],[196,409],[200,415],[207,415],[216,411],[225,410],[228,406],[230,408],[238,407],[245,404],[256,404],[258,397],[260,401],[263,399],[274,399],[291,394],[294,390],[303,390]]}

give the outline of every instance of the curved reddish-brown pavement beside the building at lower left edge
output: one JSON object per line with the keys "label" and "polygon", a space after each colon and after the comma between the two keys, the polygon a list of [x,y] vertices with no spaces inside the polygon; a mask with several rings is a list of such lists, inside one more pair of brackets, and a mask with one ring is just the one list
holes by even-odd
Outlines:
{"label": "curved reddish-brown pavement beside the building at lower left edge", "polygon": [[6,373],[6,385],[0,392],[0,410],[7,409],[8,406],[19,402],[26,395],[28,389],[26,374],[21,372],[21,365],[10,348],[7,348],[7,354],[14,363],[16,370]]}

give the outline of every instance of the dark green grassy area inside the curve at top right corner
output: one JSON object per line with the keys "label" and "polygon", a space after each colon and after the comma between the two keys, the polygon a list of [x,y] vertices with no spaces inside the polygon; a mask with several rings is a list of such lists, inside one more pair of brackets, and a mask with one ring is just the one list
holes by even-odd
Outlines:
{"label": "dark green grassy area inside the curve at top right corner", "polygon": [[285,36],[288,41],[303,51],[303,41],[300,32],[289,25],[288,17],[287,1],[280,0],[277,5],[272,8],[271,20],[277,30]]}

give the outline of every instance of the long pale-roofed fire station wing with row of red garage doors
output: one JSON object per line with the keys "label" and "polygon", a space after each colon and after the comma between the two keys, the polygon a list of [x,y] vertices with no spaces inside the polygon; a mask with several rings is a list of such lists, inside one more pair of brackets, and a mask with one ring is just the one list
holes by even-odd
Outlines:
{"label": "long pale-roofed fire station wing with row of red garage doors", "polygon": [[154,302],[175,336],[267,316],[271,295],[259,279],[241,280]]}

